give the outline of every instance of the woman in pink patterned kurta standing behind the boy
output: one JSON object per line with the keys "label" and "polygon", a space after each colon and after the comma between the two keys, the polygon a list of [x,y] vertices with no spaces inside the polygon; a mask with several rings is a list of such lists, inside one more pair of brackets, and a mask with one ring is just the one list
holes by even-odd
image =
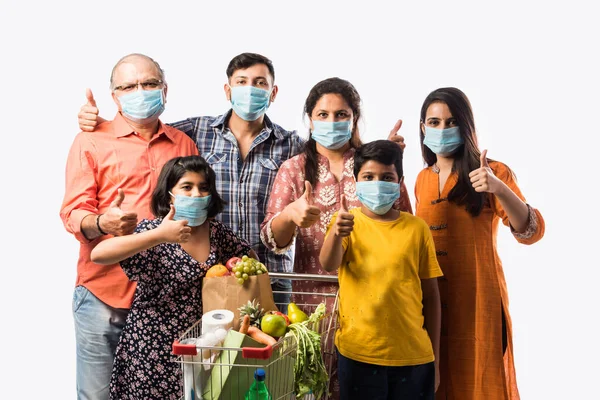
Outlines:
{"label": "woman in pink patterned kurta standing behind the boy", "polygon": [[[285,161],[275,178],[261,239],[276,253],[295,246],[296,273],[337,273],[321,268],[319,253],[329,220],[342,201],[348,209],[360,206],[354,180],[354,150],[361,145],[357,126],[360,102],[350,82],[329,78],[317,83],[304,105],[304,112],[310,118],[310,138],[304,151]],[[396,125],[389,139],[403,146],[402,137],[396,135],[399,127]],[[396,206],[412,213],[404,184]],[[325,282],[293,282],[294,292],[336,293],[337,288],[337,284]],[[330,299],[327,301],[329,313],[333,311],[333,299]],[[323,298],[316,294],[295,295],[293,300],[298,304],[318,304]],[[328,343],[329,346],[332,343]],[[330,350],[333,352],[331,347]],[[335,360],[333,362],[335,364]],[[334,366],[330,377],[333,399],[339,397],[335,370]]]}

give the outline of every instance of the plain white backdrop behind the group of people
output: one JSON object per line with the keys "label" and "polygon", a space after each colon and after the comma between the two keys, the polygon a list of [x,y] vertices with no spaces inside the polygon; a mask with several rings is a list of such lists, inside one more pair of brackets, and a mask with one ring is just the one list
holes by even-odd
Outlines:
{"label": "plain white backdrop behind the group of people", "polygon": [[592,2],[406,3],[2,0],[0,397],[75,397],[78,243],[59,209],[85,88],[112,118],[110,71],[141,52],[166,71],[163,121],[218,115],[228,109],[227,64],[244,51],[273,60],[280,91],[268,115],[286,129],[306,134],[306,95],[331,76],[361,94],[364,140],[385,138],[403,119],[413,203],[421,103],[438,87],[462,89],[482,148],[516,172],[546,220],[533,246],[500,227],[522,398],[593,397],[600,31]]}

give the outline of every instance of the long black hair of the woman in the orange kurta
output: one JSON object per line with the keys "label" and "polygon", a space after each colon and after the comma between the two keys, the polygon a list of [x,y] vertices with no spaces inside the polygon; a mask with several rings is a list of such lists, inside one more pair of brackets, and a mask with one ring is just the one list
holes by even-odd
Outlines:
{"label": "long black hair of the woman in the orange kurta", "polygon": [[[448,201],[464,205],[465,209],[472,216],[478,216],[483,209],[487,193],[478,193],[471,184],[469,173],[480,167],[479,157],[481,152],[477,143],[477,133],[475,130],[475,119],[471,103],[467,96],[459,89],[445,87],[436,89],[429,93],[423,105],[421,106],[421,124],[425,125],[427,109],[432,103],[444,103],[450,109],[450,113],[456,119],[460,130],[460,135],[464,139],[464,144],[452,154],[454,160],[452,172],[458,174],[458,182],[450,190]],[[423,144],[425,134],[420,124],[419,134],[421,137],[421,153],[423,160],[428,166],[432,166],[437,161],[437,156],[429,147]]]}

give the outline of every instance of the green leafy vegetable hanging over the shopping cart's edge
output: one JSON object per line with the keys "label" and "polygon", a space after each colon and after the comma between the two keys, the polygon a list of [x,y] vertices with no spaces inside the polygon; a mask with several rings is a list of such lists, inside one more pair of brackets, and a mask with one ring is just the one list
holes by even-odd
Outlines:
{"label": "green leafy vegetable hanging over the shopping cart's edge", "polygon": [[297,399],[311,391],[315,398],[319,399],[329,384],[329,376],[321,352],[321,335],[316,332],[319,321],[324,316],[325,303],[321,303],[307,321],[288,326],[286,336],[293,336],[298,343],[294,364],[294,389]]}

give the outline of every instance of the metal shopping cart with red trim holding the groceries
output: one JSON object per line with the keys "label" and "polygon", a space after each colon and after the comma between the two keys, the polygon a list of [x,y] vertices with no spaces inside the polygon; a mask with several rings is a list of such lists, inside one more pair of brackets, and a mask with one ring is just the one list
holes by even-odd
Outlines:
{"label": "metal shopping cart with red trim holding the groceries", "polygon": [[[309,280],[337,283],[337,276],[313,274],[269,273],[271,278]],[[291,294],[298,298],[311,295],[320,298],[325,304],[333,302],[328,312],[317,326],[311,327],[321,335],[321,352],[328,376],[332,374],[335,351],[333,336],[337,329],[338,293],[276,292]],[[329,301],[328,301],[329,300]],[[314,312],[318,304],[297,303],[307,315]],[[277,304],[280,306],[280,304]],[[246,335],[230,332],[222,346],[198,346],[202,320],[197,321],[173,343],[173,354],[183,369],[183,400],[243,400],[254,380],[254,371],[262,368],[266,372],[266,386],[273,400],[295,399],[294,363],[297,344],[292,336],[282,337],[273,346],[254,347]],[[231,345],[233,343],[233,345]],[[328,399],[326,394],[315,399],[312,394],[303,400]]]}

